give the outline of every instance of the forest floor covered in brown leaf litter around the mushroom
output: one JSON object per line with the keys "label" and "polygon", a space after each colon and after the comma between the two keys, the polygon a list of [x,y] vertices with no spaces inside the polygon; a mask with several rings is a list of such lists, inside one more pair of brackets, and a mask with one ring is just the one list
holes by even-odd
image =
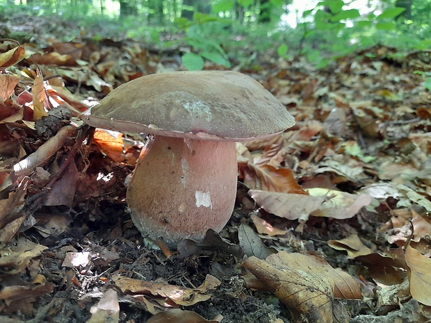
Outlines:
{"label": "forest floor covered in brown leaf litter around the mushroom", "polygon": [[0,322],[430,322],[430,51],[230,57],[296,124],[237,144],[231,220],[169,254],[125,201],[144,140],[76,115],[179,51],[18,18],[0,26],[21,35],[0,42]]}

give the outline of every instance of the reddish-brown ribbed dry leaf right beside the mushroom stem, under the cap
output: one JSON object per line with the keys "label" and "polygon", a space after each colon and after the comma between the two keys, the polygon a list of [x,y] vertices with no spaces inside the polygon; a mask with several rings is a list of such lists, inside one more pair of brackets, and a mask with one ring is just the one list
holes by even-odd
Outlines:
{"label": "reddish-brown ribbed dry leaf right beside the mushroom stem, under the cap", "polygon": [[244,184],[251,190],[307,194],[293,178],[292,169],[270,165],[258,167],[252,163],[247,166],[243,170]]}

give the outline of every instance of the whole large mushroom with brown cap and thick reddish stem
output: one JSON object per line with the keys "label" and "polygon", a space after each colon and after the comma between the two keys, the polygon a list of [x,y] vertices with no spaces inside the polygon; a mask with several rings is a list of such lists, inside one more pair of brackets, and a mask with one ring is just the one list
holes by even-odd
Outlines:
{"label": "whole large mushroom with brown cap and thick reddish stem", "polygon": [[81,116],[90,126],[152,134],[127,188],[131,218],[170,246],[221,231],[236,198],[237,141],[266,138],[295,123],[250,76],[170,72],[120,85]]}

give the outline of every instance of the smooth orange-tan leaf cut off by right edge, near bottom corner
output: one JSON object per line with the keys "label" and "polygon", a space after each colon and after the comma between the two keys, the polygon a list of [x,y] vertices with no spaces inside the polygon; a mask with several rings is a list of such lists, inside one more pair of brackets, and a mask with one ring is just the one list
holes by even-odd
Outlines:
{"label": "smooth orange-tan leaf cut off by right edge, near bottom corner", "polygon": [[424,305],[431,306],[431,259],[407,245],[405,262],[409,266],[412,297]]}

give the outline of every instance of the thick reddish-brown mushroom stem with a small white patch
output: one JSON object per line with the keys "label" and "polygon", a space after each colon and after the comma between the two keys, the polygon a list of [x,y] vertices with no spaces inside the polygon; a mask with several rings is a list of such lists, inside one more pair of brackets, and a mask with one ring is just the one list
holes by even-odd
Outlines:
{"label": "thick reddish-brown mushroom stem with a small white patch", "polygon": [[234,209],[235,142],[155,136],[143,149],[127,190],[143,235],[177,245],[221,231]]}

